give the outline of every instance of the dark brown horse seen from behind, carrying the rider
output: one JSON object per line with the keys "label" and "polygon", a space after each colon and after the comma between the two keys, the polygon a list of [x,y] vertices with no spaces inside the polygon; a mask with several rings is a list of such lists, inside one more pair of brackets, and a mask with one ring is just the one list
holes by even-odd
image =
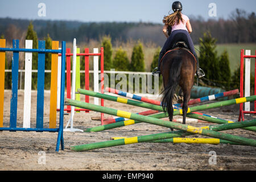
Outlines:
{"label": "dark brown horse seen from behind, carrying the rider", "polygon": [[170,121],[174,114],[172,100],[174,98],[177,85],[183,91],[183,124],[188,111],[188,101],[191,96],[191,89],[194,84],[196,73],[195,57],[188,49],[175,48],[164,55],[160,71],[163,76],[164,91],[162,97],[162,106],[167,111]]}

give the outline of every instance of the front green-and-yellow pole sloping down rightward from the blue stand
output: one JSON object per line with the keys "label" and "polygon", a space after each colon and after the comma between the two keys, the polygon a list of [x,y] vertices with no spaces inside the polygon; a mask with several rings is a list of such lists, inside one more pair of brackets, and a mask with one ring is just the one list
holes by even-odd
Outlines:
{"label": "front green-and-yellow pole sloping down rightward from the blue stand", "polygon": [[[251,97],[253,97],[253,96],[251,96]],[[202,134],[202,135],[206,135],[208,137],[220,138],[220,139],[229,140],[232,142],[238,142],[238,143],[242,143],[242,144],[256,146],[256,140],[253,140],[253,139],[237,137],[237,136],[226,134],[226,133],[218,133],[213,130],[200,129],[198,127],[182,125],[180,123],[163,121],[163,120],[157,119],[157,118],[146,117],[144,115],[129,113],[129,112],[122,111],[122,110],[110,109],[108,107],[97,106],[97,105],[88,104],[88,103],[81,102],[81,101],[74,101],[74,100],[69,100],[69,99],[67,99],[66,101],[67,101],[67,105],[78,106],[78,107],[81,107],[84,109],[99,111],[99,112],[105,113],[105,114],[116,115],[118,117],[134,119],[134,120],[141,121],[141,122],[151,123],[153,125],[159,125],[159,126],[174,128],[177,130],[183,130],[183,131],[187,131],[188,133],[192,133],[192,134]],[[245,98],[245,102],[246,101],[248,101],[248,100]],[[251,126],[256,125],[256,119],[254,122],[255,123],[253,123],[253,125],[251,125]],[[231,124],[236,124],[236,123],[230,123],[229,125],[231,125]],[[209,129],[209,127],[208,127],[208,129]]]}

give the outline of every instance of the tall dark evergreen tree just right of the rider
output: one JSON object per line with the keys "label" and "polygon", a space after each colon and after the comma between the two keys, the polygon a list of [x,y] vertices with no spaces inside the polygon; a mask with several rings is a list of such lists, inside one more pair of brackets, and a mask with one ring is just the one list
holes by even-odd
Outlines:
{"label": "tall dark evergreen tree just right of the rider", "polygon": [[[210,32],[205,32],[200,38],[200,68],[205,72],[205,78],[212,82],[220,79],[220,65],[217,57],[216,39],[212,38]],[[210,84],[210,83],[209,83]]]}

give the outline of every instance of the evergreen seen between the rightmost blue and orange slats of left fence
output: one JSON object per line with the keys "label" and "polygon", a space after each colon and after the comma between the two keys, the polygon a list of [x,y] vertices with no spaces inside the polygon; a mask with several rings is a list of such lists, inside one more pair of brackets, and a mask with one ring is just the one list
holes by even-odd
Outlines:
{"label": "evergreen seen between the rightmost blue and orange slats of left fence", "polygon": [[[46,41],[46,49],[52,49],[52,39],[50,38],[49,34],[47,34],[47,37],[44,38],[44,40]],[[46,53],[46,70],[52,69],[51,60],[52,54]],[[46,73],[45,75],[44,88],[51,89],[51,73]]]}

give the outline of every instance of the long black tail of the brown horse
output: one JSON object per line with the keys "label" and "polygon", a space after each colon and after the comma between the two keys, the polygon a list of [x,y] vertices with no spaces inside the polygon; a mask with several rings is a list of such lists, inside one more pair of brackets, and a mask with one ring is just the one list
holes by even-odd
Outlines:
{"label": "long black tail of the brown horse", "polygon": [[172,98],[174,98],[175,89],[179,84],[181,64],[181,57],[175,57],[172,60],[168,85],[164,88],[162,92],[162,107],[164,112],[167,111],[170,119],[172,119],[174,114],[174,107],[172,107]]}

